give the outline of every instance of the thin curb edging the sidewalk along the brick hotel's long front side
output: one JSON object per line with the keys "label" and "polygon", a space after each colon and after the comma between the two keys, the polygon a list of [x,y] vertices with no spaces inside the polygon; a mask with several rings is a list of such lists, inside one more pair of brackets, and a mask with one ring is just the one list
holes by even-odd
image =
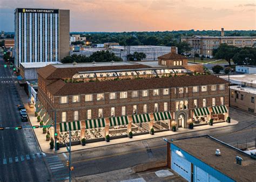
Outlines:
{"label": "thin curb edging the sidewalk along the brick hotel's long front side", "polygon": [[[239,122],[238,122],[238,123],[239,123]],[[238,124],[238,123],[237,123],[237,124]],[[232,124],[232,125],[236,125],[236,124]],[[154,138],[161,138],[161,137],[167,137],[167,136],[173,136],[173,135],[181,135],[181,134],[187,134],[187,133],[190,133],[190,132],[212,130],[212,129],[217,129],[217,128],[225,128],[225,127],[230,127],[230,126],[232,126],[232,125],[226,125],[226,126],[222,126],[222,127],[209,128],[209,129],[201,129],[201,130],[191,130],[191,131],[185,131],[185,132],[180,133],[180,134],[165,135],[165,136],[159,136],[159,137],[154,137]],[[127,142],[122,142],[122,143],[114,143],[114,144],[108,144],[108,145],[102,145],[102,146],[94,146],[94,147],[88,148],[88,149],[101,148],[101,147],[104,147],[104,146],[118,145],[118,144],[123,144],[123,143],[131,143],[131,142],[145,141],[145,140],[147,140],[147,139],[154,139],[154,138],[144,138],[144,139],[138,139],[138,140],[136,140],[136,141],[127,141]],[[73,152],[82,151],[82,150],[87,150],[87,149],[78,149],[78,150],[75,150],[75,151],[73,151]],[[43,152],[44,152],[44,151],[43,151]],[[48,153],[48,152],[44,152],[44,153]],[[57,152],[57,154],[59,154],[59,153],[67,153],[67,152]],[[48,153],[48,154],[54,154],[54,153]]]}

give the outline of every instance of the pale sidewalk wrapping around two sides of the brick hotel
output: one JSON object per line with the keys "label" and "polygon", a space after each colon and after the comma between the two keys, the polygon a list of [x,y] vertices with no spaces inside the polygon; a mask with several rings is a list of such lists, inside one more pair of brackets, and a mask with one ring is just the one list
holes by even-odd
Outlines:
{"label": "pale sidewalk wrapping around two sides of the brick hotel", "polygon": [[[29,121],[31,125],[39,125],[37,122],[37,117],[35,117],[35,111],[34,108],[30,108],[28,106],[28,96],[26,95],[25,91],[23,88],[17,86],[17,90],[19,92],[19,95],[21,96],[22,102],[24,103],[24,106],[27,110]],[[196,131],[201,131],[201,130],[207,130],[207,129],[214,129],[214,128],[222,128],[222,127],[228,127],[230,125],[235,125],[238,124],[238,121],[231,120],[231,123],[215,123],[213,126],[210,125],[203,125],[199,127],[194,127],[194,129],[187,129],[187,128],[179,128],[176,132],[173,131],[163,131],[163,132],[155,132],[154,135],[150,134],[145,134],[145,135],[139,135],[139,136],[133,136],[133,138],[118,138],[118,139],[112,139],[110,142],[95,142],[95,143],[87,143],[85,146],[82,145],[74,145],[71,146],[72,151],[77,151],[77,150],[84,150],[84,149],[91,149],[91,148],[97,148],[100,146],[108,146],[108,145],[114,145],[114,144],[120,144],[120,143],[127,143],[127,142],[134,142],[134,141],[141,141],[144,139],[149,139],[149,138],[158,138],[158,137],[166,137],[166,136],[172,136],[172,135],[178,135],[178,134],[184,134],[187,132],[196,132]],[[46,135],[43,134],[43,129],[42,128],[35,128],[33,129],[35,132],[37,142],[39,144],[39,147],[41,148],[42,152],[44,153],[55,153],[54,150],[50,149],[50,142],[46,141]],[[60,148],[57,153],[63,153],[67,152],[66,148]]]}

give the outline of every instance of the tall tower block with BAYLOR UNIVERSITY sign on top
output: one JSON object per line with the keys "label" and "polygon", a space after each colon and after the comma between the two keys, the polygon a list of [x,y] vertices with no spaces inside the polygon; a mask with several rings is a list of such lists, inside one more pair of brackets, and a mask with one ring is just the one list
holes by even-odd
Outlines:
{"label": "tall tower block with BAYLOR UNIVERSITY sign on top", "polygon": [[69,55],[69,10],[15,10],[15,66],[57,62]]}

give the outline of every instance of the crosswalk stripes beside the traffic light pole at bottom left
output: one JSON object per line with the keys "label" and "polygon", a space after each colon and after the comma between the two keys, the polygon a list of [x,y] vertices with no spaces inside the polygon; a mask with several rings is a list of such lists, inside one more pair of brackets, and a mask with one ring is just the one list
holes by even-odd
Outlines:
{"label": "crosswalk stripes beside the traffic light pole at bottom left", "polygon": [[59,156],[46,157],[46,161],[50,167],[54,181],[69,179],[69,169],[63,164]]}

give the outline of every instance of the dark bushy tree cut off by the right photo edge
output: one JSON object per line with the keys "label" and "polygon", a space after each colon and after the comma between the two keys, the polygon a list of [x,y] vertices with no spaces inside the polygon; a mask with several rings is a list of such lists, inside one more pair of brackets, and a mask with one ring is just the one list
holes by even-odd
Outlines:
{"label": "dark bushy tree cut off by the right photo edge", "polygon": [[[247,62],[246,62],[247,58]],[[243,47],[240,48],[239,52],[235,53],[232,58],[235,64],[238,65],[256,65],[256,48]]]}

